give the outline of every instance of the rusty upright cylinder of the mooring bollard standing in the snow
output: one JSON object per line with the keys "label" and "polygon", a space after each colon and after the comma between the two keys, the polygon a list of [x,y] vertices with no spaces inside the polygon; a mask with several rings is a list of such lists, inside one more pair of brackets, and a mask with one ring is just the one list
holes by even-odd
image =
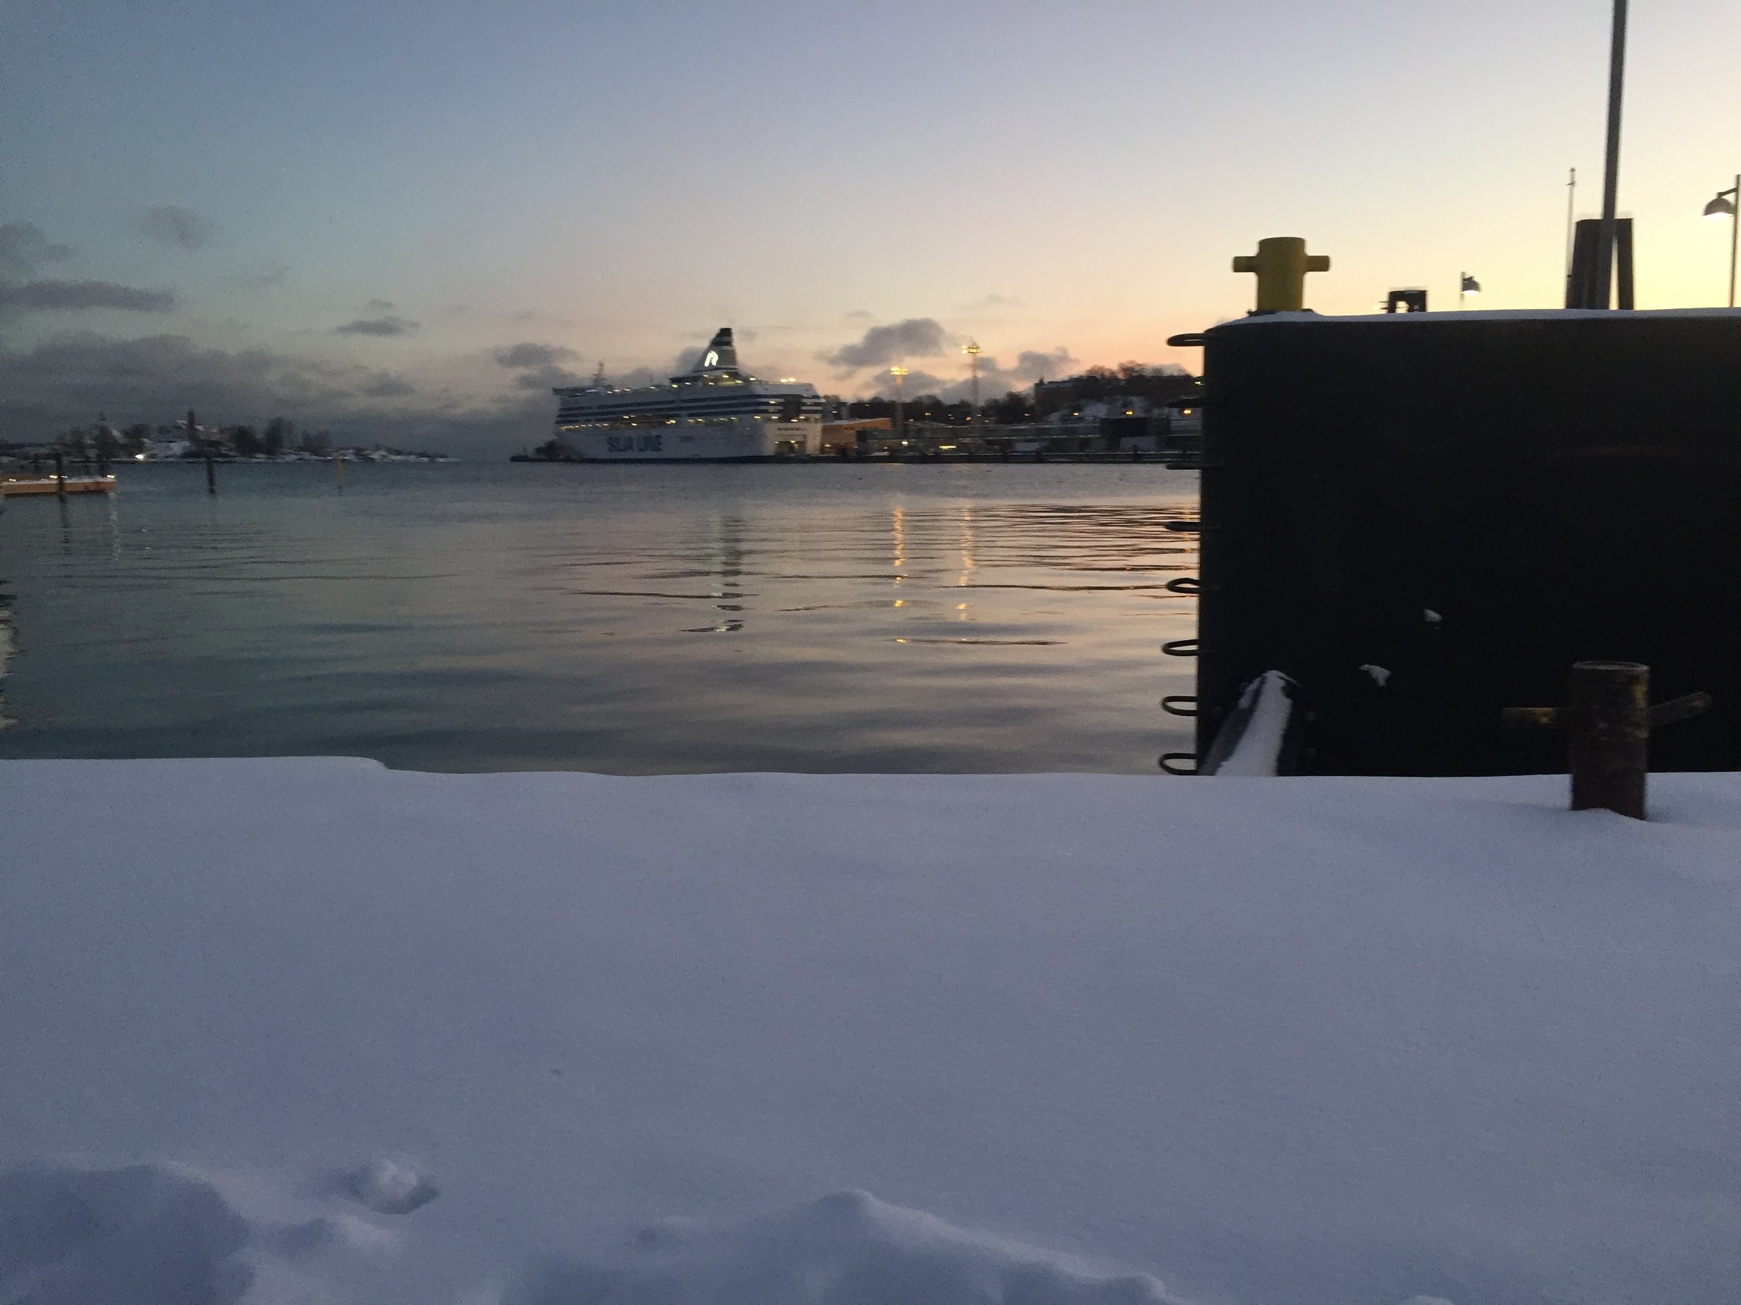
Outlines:
{"label": "rusty upright cylinder of the mooring bollard standing in the snow", "polygon": [[1567,694],[1572,811],[1596,807],[1644,820],[1650,743],[1650,668],[1577,661]]}

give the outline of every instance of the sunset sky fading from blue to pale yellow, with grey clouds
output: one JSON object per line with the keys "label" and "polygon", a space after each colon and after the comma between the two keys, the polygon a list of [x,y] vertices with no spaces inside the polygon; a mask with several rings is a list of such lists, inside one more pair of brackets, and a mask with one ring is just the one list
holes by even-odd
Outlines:
{"label": "sunset sky fading from blue to pale yellow, with grey clouds", "polygon": [[[1609,0],[188,0],[14,5],[0,438],[282,412],[481,452],[547,386],[749,367],[989,386],[1250,306],[1555,306],[1598,207]],[[1724,301],[1741,5],[1635,0],[1621,209],[1644,308]],[[900,325],[907,324],[907,325]],[[898,327],[883,334],[877,327]],[[534,346],[534,348],[517,348]],[[1025,355],[1025,357],[1024,357]],[[832,358],[832,360],[830,360]],[[851,364],[860,365],[851,365]]]}

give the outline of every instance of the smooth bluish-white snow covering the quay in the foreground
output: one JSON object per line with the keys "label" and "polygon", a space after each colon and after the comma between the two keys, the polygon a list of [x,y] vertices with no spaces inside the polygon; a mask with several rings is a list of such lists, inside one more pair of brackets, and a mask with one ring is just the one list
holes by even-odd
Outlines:
{"label": "smooth bluish-white snow covering the quay in the foreground", "polygon": [[5,762],[0,1302],[1732,1305],[1741,778],[1563,785]]}

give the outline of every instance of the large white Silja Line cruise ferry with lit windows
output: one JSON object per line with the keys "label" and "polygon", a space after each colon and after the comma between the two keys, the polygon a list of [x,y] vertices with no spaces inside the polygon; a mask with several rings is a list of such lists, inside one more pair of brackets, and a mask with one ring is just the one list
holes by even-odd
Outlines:
{"label": "large white Silja Line cruise ferry with lit windows", "polygon": [[721,327],[695,371],[670,385],[555,390],[555,437],[569,458],[611,463],[745,461],[820,452],[822,397],[799,381],[738,369]]}

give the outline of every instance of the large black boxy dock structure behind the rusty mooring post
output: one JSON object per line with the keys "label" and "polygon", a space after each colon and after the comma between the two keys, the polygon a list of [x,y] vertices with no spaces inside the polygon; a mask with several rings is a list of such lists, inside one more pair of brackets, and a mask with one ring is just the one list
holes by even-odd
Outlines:
{"label": "large black boxy dock structure behind the rusty mooring post", "polygon": [[1501,713],[1612,659],[1715,701],[1652,769],[1741,769],[1741,311],[1271,311],[1179,343],[1200,759],[1278,670],[1285,773],[1563,773]]}

